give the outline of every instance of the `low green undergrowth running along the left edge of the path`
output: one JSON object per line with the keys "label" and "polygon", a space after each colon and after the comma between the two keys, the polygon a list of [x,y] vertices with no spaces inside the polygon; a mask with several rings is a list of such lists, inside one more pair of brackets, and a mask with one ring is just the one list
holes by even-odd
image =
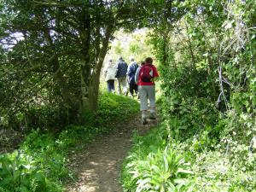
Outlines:
{"label": "low green undergrowth running along the left edge of the path", "polygon": [[73,179],[67,169],[71,148],[79,149],[97,135],[113,130],[137,110],[134,100],[103,93],[98,112],[84,113],[83,125],[68,125],[57,136],[35,127],[19,149],[0,155],[0,191],[62,191],[63,183]]}

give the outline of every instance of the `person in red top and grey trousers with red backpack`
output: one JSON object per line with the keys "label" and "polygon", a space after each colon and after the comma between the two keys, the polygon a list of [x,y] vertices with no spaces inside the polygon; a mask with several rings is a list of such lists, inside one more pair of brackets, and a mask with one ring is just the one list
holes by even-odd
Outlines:
{"label": "person in red top and grey trousers with red backpack", "polygon": [[155,86],[154,78],[158,77],[159,74],[156,67],[153,65],[153,59],[148,57],[145,60],[145,64],[137,68],[135,79],[138,85],[138,91],[140,95],[142,111],[142,124],[145,125],[147,121],[147,111],[148,111],[148,100],[150,104],[150,114],[149,119],[155,119]]}

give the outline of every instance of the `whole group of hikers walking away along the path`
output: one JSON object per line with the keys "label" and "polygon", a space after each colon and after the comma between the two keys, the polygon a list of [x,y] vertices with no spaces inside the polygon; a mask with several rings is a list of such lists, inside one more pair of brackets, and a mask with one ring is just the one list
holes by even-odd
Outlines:
{"label": "whole group of hikers walking away along the path", "polygon": [[[135,59],[131,57],[131,63],[127,65],[122,56],[114,63],[110,59],[104,68],[105,80],[108,84],[108,92],[115,92],[114,81],[118,82],[119,95],[134,97],[140,99],[140,110],[142,112],[142,124],[147,121],[148,100],[149,100],[149,119],[155,119],[155,87],[154,79],[159,76],[156,67],[153,65],[153,59],[148,57],[141,61],[140,66]],[[129,91],[128,91],[129,86]]]}

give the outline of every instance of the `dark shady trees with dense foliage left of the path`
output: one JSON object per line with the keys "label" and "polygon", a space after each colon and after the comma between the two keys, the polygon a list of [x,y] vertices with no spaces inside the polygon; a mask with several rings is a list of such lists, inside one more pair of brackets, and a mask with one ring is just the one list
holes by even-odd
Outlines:
{"label": "dark shady trees with dense foliage left of the path", "polygon": [[56,126],[77,123],[81,108],[96,110],[113,32],[137,28],[144,6],[102,0],[0,4],[0,113],[16,130],[23,129],[14,118],[20,112],[27,114],[27,125],[49,129],[53,121]]}

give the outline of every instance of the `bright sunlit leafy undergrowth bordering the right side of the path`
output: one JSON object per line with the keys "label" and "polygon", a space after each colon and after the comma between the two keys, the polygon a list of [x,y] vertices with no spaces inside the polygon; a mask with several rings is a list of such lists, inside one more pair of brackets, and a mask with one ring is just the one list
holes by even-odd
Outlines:
{"label": "bright sunlit leafy undergrowth bordering the right side of the path", "polygon": [[123,165],[124,191],[256,191],[256,154],[236,141],[217,143],[210,133],[181,141],[162,123],[146,137],[135,134]]}

